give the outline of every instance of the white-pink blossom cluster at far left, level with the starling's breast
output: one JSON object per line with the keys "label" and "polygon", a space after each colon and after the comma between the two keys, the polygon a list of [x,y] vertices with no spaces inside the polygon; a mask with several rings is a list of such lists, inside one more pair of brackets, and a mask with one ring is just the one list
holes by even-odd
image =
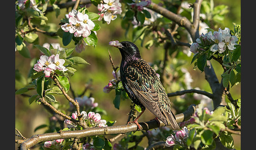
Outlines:
{"label": "white-pink blossom cluster at far left, level with the starling's breast", "polygon": [[63,66],[65,63],[64,59],[60,59],[60,55],[56,54],[50,57],[42,55],[37,63],[34,65],[34,70],[37,72],[44,71],[45,77],[50,77],[51,73],[55,70],[67,71],[66,67]]}

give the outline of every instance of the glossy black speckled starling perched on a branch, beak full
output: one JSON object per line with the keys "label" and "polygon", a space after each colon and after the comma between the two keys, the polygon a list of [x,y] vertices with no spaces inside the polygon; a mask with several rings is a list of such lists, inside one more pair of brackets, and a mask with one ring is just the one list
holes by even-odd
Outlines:
{"label": "glossy black speckled starling perched on a branch, beak full", "polygon": [[148,109],[165,125],[171,125],[174,130],[180,128],[159,77],[141,58],[139,48],[130,41],[111,41],[110,45],[119,48],[122,55],[120,74],[124,90],[142,110],[133,122],[140,128],[137,120]]}

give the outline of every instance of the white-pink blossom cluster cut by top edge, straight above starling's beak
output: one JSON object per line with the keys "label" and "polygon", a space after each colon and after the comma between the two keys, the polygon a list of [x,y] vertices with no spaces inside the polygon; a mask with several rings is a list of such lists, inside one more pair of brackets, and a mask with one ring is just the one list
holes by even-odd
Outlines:
{"label": "white-pink blossom cluster cut by top edge, straight above starling's beak", "polygon": [[110,24],[111,20],[117,18],[117,14],[122,13],[121,6],[119,0],[103,0],[103,3],[97,6],[100,15],[99,20],[103,18],[107,24]]}

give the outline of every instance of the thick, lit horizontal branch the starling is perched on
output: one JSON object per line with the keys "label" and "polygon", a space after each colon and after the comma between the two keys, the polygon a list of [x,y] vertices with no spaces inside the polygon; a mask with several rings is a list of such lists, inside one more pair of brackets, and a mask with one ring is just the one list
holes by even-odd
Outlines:
{"label": "thick, lit horizontal branch the starling is perched on", "polygon": [[[185,120],[190,119],[190,117],[194,114],[195,105],[190,105],[188,110],[184,113],[175,115],[176,121],[178,123],[183,122]],[[165,126],[163,122],[160,121],[160,124],[156,120],[148,121],[148,122],[140,122],[141,128],[140,130],[150,130],[152,128],[157,128],[161,126]],[[87,136],[95,136],[95,135],[110,135],[110,134],[125,134],[128,132],[137,131],[137,125],[135,123],[119,125],[119,126],[108,126],[108,127],[90,127],[84,130],[75,130],[75,131],[61,131],[56,133],[45,133],[33,135],[31,138],[28,138],[25,142],[23,142],[20,146],[21,150],[28,149],[40,142],[44,141],[52,141],[61,138],[82,138]]]}

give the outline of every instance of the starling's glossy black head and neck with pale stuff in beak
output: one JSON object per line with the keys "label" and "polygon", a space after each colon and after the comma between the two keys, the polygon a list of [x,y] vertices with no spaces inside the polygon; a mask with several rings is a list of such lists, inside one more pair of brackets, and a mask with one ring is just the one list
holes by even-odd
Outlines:
{"label": "starling's glossy black head and neck with pale stuff in beak", "polygon": [[109,45],[120,50],[123,60],[134,61],[141,59],[139,48],[130,41],[111,41]]}

